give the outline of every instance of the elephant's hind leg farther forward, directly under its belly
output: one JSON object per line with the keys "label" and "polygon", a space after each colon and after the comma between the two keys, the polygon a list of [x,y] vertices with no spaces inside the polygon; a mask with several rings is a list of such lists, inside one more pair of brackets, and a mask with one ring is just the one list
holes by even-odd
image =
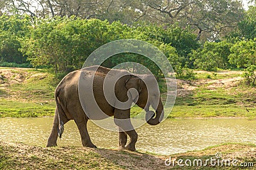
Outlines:
{"label": "elephant's hind leg farther forward, directly under its belly", "polygon": [[87,122],[88,120],[86,118],[82,118],[82,120],[76,120],[76,125],[77,128],[79,129],[80,135],[81,135],[81,140],[82,140],[82,145],[89,147],[89,148],[97,148],[97,146],[93,145],[90,136],[87,131]]}

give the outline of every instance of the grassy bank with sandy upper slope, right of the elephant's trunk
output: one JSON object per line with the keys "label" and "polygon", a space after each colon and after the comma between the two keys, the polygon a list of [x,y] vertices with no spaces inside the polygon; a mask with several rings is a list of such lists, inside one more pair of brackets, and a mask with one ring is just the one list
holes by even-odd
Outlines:
{"label": "grassy bank with sandy upper slope, right of the elephant's trunk", "polygon": [[196,80],[177,80],[170,117],[256,117],[256,88],[243,83],[241,71],[198,71]]}

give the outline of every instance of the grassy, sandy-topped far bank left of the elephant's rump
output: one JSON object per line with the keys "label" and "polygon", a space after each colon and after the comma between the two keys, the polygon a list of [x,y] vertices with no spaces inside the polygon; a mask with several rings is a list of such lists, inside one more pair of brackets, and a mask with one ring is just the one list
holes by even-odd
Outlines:
{"label": "grassy, sandy-topped far bank left of the elephant's rump", "polygon": [[57,84],[44,70],[1,67],[0,117],[52,116]]}

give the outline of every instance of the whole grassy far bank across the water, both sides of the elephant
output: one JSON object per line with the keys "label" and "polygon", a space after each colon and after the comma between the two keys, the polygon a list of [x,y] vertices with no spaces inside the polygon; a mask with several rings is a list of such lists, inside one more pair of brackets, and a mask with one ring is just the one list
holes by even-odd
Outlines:
{"label": "whole grassy far bank across the water, both sides of the elephant", "polygon": [[[196,80],[177,80],[177,99],[170,118],[256,118],[256,88],[241,81],[241,71],[196,71]],[[54,115],[54,74],[44,70],[0,68],[0,117]],[[164,87],[161,82],[161,87]],[[141,111],[135,107],[133,117]]]}

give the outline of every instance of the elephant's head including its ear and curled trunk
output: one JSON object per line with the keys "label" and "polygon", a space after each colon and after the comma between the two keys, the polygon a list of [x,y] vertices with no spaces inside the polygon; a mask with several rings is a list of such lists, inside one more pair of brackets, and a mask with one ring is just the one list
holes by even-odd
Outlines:
{"label": "elephant's head including its ear and curled trunk", "polygon": [[[150,125],[157,125],[163,120],[164,108],[161,101],[159,87],[153,75],[141,75],[132,76],[125,83],[125,87],[129,89],[136,89],[138,93],[131,93],[132,100],[136,101],[136,104],[143,108],[146,114],[146,121]],[[152,106],[156,111],[149,111],[149,107]]]}

